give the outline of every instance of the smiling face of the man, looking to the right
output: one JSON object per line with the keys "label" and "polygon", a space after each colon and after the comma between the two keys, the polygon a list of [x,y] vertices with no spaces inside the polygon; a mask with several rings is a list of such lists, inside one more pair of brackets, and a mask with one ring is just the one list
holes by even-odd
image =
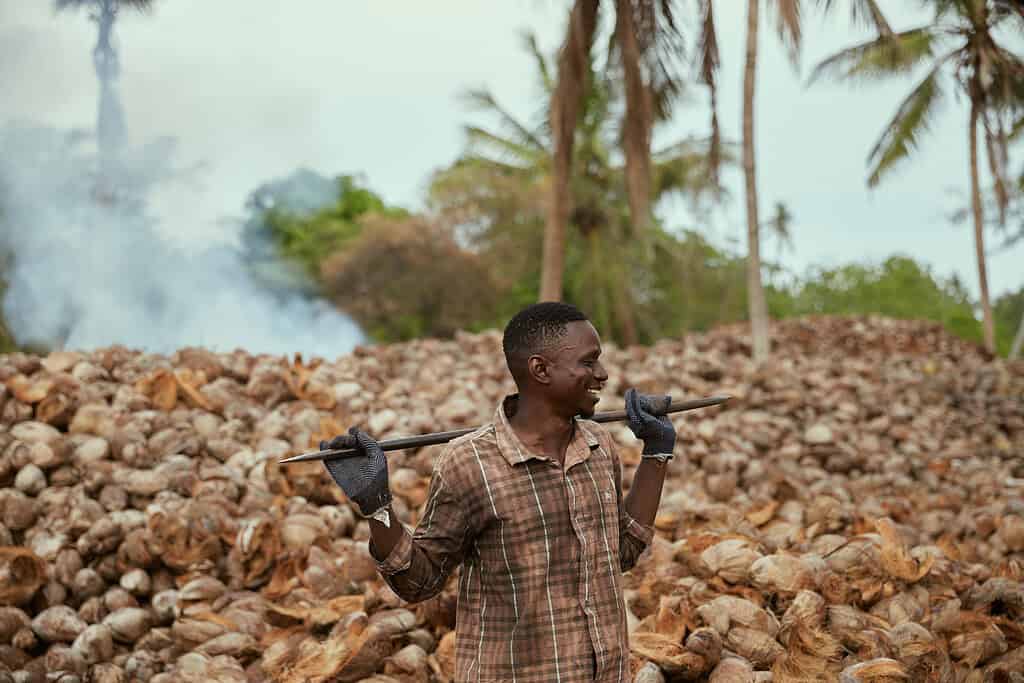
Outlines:
{"label": "smiling face of the man, looking to the right", "polygon": [[568,323],[565,337],[544,355],[549,359],[549,395],[564,407],[565,417],[593,416],[598,393],[608,380],[598,359],[601,338],[594,326],[587,321]]}

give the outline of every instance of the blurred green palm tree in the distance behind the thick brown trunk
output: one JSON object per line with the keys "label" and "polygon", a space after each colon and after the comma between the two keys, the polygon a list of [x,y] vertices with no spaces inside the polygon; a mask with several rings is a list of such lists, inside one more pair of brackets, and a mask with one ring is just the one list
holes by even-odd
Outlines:
{"label": "blurred green palm tree in the distance behind the thick brown trunk", "polygon": [[[553,102],[550,95],[559,84],[551,76],[549,59],[532,36],[526,37],[526,47],[543,91]],[[595,70],[590,56],[586,70],[587,90],[579,100],[568,147],[572,173],[564,191],[566,224],[573,228],[565,236],[564,253],[573,265],[567,289],[577,303],[592,311],[595,325],[630,344],[641,336],[656,336],[656,322],[645,319],[643,306],[635,306],[647,295],[647,285],[629,286],[644,270],[638,264],[645,257],[643,249],[630,248],[629,171],[617,150],[616,118],[624,108],[625,87],[613,71]],[[497,255],[489,260],[500,270],[499,281],[515,287],[522,273],[541,260],[528,245],[536,244],[546,209],[550,209],[550,205],[545,207],[543,189],[551,186],[556,175],[556,156],[551,154],[555,133],[547,125],[550,117],[539,125],[521,122],[485,89],[468,92],[466,99],[501,127],[467,126],[467,153],[435,175],[431,204],[463,229],[464,242]],[[710,139],[687,138],[656,151],[650,160],[652,201],[671,194],[686,197],[695,207],[716,201],[722,190],[710,172],[711,147]],[[656,222],[652,227],[657,227]],[[655,242],[656,232],[651,230]],[[547,265],[543,263],[542,269]]]}

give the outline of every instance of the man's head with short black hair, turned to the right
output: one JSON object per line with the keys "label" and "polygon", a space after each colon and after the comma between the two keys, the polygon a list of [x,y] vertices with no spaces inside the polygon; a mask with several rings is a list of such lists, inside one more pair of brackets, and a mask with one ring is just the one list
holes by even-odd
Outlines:
{"label": "man's head with short black hair, turned to the right", "polygon": [[590,416],[608,379],[601,340],[579,308],[547,301],[522,309],[505,327],[505,360],[520,393],[543,396],[566,415]]}

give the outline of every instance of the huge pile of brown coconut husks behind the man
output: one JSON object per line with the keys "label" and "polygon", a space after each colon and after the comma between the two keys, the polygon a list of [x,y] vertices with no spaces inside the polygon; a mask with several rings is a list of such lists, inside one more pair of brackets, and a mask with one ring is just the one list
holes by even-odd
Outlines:
{"label": "huge pile of brown coconut husks behind the man", "polygon": [[[1024,365],[935,325],[778,324],[605,346],[674,418],[626,575],[635,681],[1024,681]],[[0,683],[451,681],[457,574],[409,605],[318,463],[358,424],[473,426],[513,390],[498,332],[327,361],[121,347],[0,356]],[[622,446],[624,485],[639,443]],[[418,520],[442,446],[390,453]]]}

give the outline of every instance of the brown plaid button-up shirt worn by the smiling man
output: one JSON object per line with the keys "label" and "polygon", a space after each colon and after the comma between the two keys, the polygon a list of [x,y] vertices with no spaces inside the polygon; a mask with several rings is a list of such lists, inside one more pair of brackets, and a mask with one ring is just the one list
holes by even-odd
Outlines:
{"label": "brown plaid button-up shirt worn by the smiling man", "polygon": [[622,572],[653,529],[626,512],[607,432],[575,427],[560,467],[526,450],[499,404],[492,424],[443,451],[415,532],[403,527],[378,562],[409,602],[463,565],[456,681],[629,679]]}

